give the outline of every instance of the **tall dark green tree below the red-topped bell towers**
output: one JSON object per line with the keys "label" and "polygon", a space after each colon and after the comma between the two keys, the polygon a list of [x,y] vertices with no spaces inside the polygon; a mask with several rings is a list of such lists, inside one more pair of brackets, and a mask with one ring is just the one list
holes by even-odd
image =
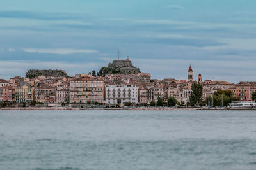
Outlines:
{"label": "tall dark green tree below the red-topped bell towers", "polygon": [[189,103],[191,106],[195,106],[197,103],[201,103],[203,97],[203,87],[198,81],[193,81],[192,93],[189,97]]}

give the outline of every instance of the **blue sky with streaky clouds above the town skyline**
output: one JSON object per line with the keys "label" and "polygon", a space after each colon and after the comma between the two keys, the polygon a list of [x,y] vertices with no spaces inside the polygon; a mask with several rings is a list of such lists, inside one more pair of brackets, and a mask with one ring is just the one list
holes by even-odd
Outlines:
{"label": "blue sky with streaky clouds above the town skyline", "polygon": [[8,0],[0,6],[0,78],[69,76],[129,59],[152,78],[256,81],[255,0]]}

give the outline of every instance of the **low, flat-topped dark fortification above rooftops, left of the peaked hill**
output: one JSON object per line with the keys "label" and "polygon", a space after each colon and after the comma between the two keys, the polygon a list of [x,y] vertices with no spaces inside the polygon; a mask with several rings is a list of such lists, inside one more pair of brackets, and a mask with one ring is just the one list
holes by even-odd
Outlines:
{"label": "low, flat-topped dark fortification above rooftops, left of the peaked hill", "polygon": [[26,73],[26,78],[38,78],[38,76],[54,76],[54,77],[68,77],[65,70],[52,69],[29,69]]}

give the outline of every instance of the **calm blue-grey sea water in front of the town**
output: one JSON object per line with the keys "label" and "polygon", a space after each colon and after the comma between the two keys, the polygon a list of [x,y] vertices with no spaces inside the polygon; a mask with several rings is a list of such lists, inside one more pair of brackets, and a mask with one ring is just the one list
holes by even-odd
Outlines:
{"label": "calm blue-grey sea water in front of the town", "polygon": [[256,169],[256,111],[0,111],[0,169]]}

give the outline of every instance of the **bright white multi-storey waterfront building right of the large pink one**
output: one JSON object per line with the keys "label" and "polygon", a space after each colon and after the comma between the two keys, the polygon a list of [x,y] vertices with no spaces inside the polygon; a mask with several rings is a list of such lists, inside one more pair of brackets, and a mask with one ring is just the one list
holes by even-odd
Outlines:
{"label": "bright white multi-storey waterfront building right of the large pink one", "polygon": [[121,105],[124,103],[138,103],[138,87],[136,85],[106,85],[106,104]]}

